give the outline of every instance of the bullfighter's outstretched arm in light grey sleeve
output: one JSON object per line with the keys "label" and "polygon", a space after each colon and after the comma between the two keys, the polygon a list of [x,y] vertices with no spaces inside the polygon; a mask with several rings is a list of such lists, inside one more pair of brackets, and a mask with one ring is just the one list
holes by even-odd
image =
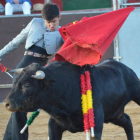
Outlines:
{"label": "bullfighter's outstretched arm in light grey sleeve", "polygon": [[19,48],[21,44],[25,43],[33,20],[18,34],[12,41],[10,41],[3,49],[0,50],[0,59],[7,56],[9,53]]}

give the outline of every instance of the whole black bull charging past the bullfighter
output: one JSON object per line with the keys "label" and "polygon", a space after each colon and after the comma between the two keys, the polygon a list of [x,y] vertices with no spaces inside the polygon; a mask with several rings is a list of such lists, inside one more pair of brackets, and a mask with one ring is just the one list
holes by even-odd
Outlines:
{"label": "whole black bull charging past the bullfighter", "polygon": [[[140,105],[138,77],[115,60],[87,69],[91,73],[96,139],[101,140],[103,123],[111,122],[124,128],[128,140],[134,140],[133,126],[124,107],[131,100]],[[38,70],[45,73],[44,79],[33,78]],[[84,131],[80,72],[81,67],[65,62],[53,62],[46,67],[33,63],[17,76],[4,106],[10,111],[45,110],[51,116],[50,140],[61,140],[65,130]]]}

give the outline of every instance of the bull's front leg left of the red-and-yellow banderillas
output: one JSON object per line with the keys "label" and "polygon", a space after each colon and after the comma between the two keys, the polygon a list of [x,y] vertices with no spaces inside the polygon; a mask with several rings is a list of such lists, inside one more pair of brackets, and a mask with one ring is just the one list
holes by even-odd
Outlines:
{"label": "bull's front leg left of the red-and-yellow banderillas", "polygon": [[49,120],[49,140],[61,140],[64,130],[52,119]]}

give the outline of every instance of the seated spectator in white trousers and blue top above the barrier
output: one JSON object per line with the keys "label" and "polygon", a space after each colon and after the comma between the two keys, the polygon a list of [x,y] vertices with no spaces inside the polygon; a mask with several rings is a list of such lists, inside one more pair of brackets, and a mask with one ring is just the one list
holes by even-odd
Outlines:
{"label": "seated spectator in white trousers and blue top above the barrier", "polygon": [[24,14],[31,14],[31,6],[30,0],[6,0],[5,15],[12,15],[14,12],[21,11]]}

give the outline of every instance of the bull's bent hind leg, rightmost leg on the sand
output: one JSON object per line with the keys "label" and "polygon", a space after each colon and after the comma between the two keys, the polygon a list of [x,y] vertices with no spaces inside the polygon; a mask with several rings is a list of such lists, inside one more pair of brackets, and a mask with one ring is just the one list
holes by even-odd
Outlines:
{"label": "bull's bent hind leg, rightmost leg on the sand", "polygon": [[113,119],[111,123],[123,127],[126,132],[127,139],[134,140],[133,126],[129,115],[124,113],[122,117]]}

